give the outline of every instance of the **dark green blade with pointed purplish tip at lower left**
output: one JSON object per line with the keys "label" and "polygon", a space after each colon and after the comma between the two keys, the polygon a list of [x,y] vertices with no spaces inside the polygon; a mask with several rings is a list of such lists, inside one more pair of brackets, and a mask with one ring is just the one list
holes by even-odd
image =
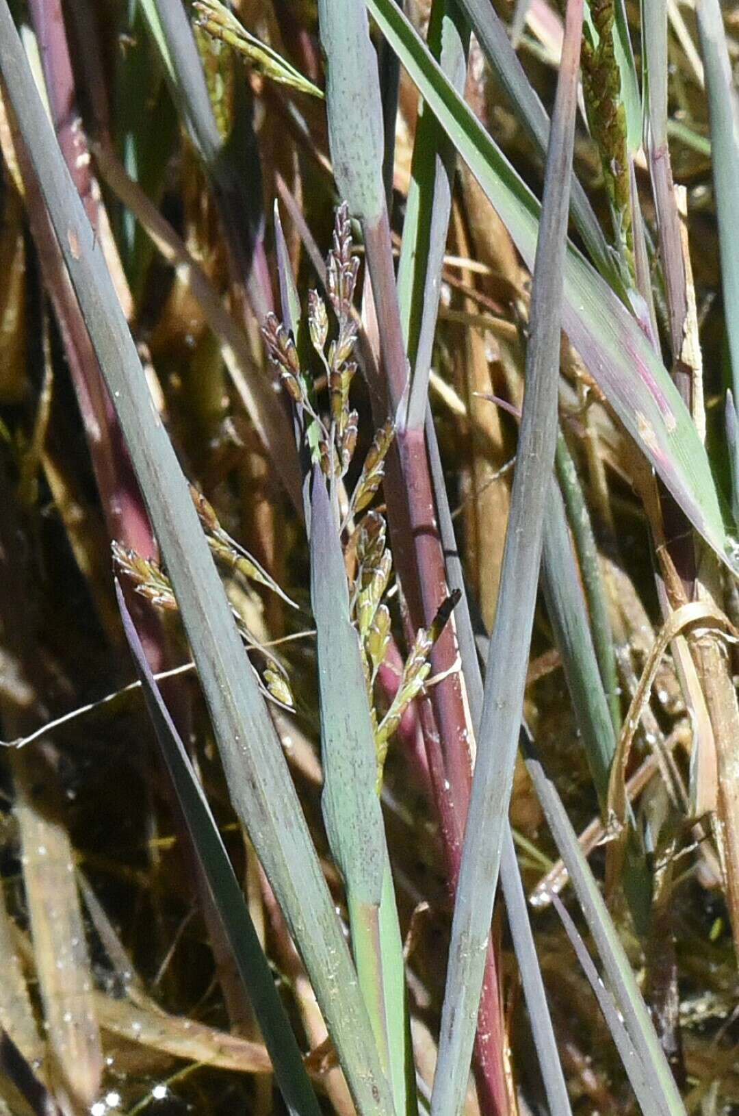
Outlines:
{"label": "dark green blade with pointed purplish tip at lower left", "polygon": [[218,827],[211,814],[203,788],[197,781],[185,745],[162,700],[146,662],[138,633],[116,578],[116,597],[124,632],[136,664],[146,706],[154,724],[162,756],[175,788],[193,850],[213,899],[213,911],[228,942],[239,975],[249,992],[264,1045],[269,1050],[278,1085],[288,1109],[304,1116],[318,1116],[320,1108],[305,1072],[288,1013],[274,985],[274,979],[254,930],[244,895],[228,859]]}

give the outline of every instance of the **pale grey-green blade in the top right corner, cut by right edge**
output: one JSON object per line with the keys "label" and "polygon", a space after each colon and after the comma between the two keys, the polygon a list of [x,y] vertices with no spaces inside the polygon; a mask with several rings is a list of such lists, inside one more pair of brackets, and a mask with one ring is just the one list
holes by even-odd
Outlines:
{"label": "pale grey-green blade in the top right corner, cut by right edge", "polygon": [[739,95],[731,76],[719,0],[696,8],[711,125],[713,189],[726,328],[731,356],[731,387],[739,398]]}

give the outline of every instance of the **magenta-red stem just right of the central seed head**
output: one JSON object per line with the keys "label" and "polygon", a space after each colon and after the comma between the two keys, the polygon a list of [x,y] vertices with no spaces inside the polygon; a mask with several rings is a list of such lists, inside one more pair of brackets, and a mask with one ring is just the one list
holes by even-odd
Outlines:
{"label": "magenta-red stem just right of the central seed head", "polygon": [[[415,634],[419,627],[431,624],[448,595],[444,551],[436,520],[425,432],[422,426],[420,430],[409,429],[403,423],[408,362],[398,314],[387,214],[373,227],[364,224],[364,242],[385,371],[382,384],[371,386],[375,398],[383,396],[386,401],[381,420],[387,414],[397,420],[385,482],[388,521],[411,634]],[[454,627],[447,624],[431,652],[432,674],[449,671],[457,657]],[[454,901],[471,788],[467,716],[458,671],[448,674],[431,689],[430,696],[420,703],[420,718],[440,821],[447,882]],[[486,1116],[503,1116],[508,1112],[503,1068],[505,1030],[498,995],[496,950],[494,943],[490,944],[473,1068],[482,1112]]]}

